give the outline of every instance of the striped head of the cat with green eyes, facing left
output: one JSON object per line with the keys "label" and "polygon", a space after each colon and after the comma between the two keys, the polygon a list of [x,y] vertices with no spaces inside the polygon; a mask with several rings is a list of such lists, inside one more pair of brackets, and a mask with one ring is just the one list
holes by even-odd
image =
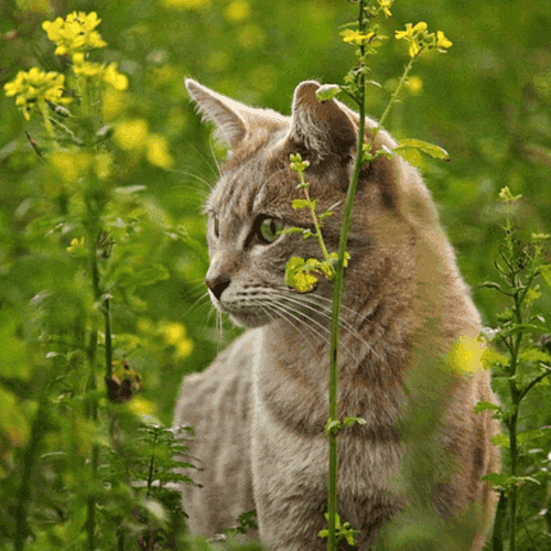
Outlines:
{"label": "striped head of the cat with green eyes, facing left", "polygon": [[[204,117],[214,122],[215,136],[229,147],[222,176],[205,212],[208,215],[210,267],[206,284],[214,305],[245,326],[284,318],[298,327],[307,318],[324,325],[328,317],[331,283],[320,280],[311,293],[300,294],[284,283],[291,257],[318,258],[314,238],[280,235],[284,227],[312,228],[307,208],[294,209],[303,198],[289,156],[301,153],[310,161],[304,175],[318,213],[332,208],[323,235],[328,251],[338,249],[343,206],[356,154],[358,115],[339,101],[320,101],[320,84],[300,84],[290,117],[255,109],[186,79],[191,97]],[[366,136],[375,122],[367,119]],[[392,149],[383,131],[374,150]],[[354,304],[380,283],[389,257],[401,257],[408,270],[411,228],[436,223],[429,194],[417,171],[401,159],[379,158],[364,166],[348,242],[345,304]]]}

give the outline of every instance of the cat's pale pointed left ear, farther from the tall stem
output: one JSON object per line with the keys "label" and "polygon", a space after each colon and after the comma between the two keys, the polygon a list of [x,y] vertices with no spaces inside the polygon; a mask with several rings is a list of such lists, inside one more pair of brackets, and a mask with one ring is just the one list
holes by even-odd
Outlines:
{"label": "cat's pale pointed left ear, farther from the tall stem", "polygon": [[245,111],[248,107],[210,90],[192,78],[185,79],[185,87],[204,118],[215,123],[215,137],[236,149],[247,133]]}

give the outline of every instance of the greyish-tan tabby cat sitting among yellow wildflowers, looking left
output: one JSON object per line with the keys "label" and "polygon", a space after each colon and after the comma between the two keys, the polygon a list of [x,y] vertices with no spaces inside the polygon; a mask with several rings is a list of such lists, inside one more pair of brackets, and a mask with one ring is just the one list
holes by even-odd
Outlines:
{"label": "greyish-tan tabby cat sitting among yellow wildflowers, looking left", "polygon": [[[229,148],[205,206],[205,282],[214,306],[248,327],[204,372],[185,379],[177,400],[174,426],[195,428],[190,455],[199,462],[195,480],[203,486],[182,486],[188,528],[213,536],[256,509],[259,530],[251,537],[267,549],[321,551],[332,283],[321,279],[307,293],[288,288],[287,261],[321,252],[315,239],[279,230],[313,227],[307,208],[292,207],[303,197],[289,162],[299,152],[310,162],[305,179],[318,213],[332,207],[323,236],[327,249],[337,250],[359,116],[336,99],[317,100],[313,80],[296,87],[290,117],[248,107],[193,79],[185,84]],[[366,118],[366,127],[369,139],[376,122]],[[372,151],[396,147],[381,130]],[[338,512],[359,531],[357,549],[367,550],[410,503],[407,486],[397,482],[411,450],[398,430],[414,401],[410,381],[431,361],[445,364],[454,343],[475,342],[480,318],[430,193],[400,156],[363,168],[347,250],[339,418],[360,417],[367,424],[343,429],[337,437]],[[445,379],[442,370],[431,372],[426,397],[445,391],[435,410],[436,442],[454,468],[447,478],[419,486],[428,486],[439,518],[476,511],[466,549],[479,551],[496,507],[495,491],[479,478],[498,471],[500,458],[491,444],[497,422],[489,411],[474,413],[474,406],[496,398],[483,369],[455,374],[447,386],[434,379],[437,372]]]}

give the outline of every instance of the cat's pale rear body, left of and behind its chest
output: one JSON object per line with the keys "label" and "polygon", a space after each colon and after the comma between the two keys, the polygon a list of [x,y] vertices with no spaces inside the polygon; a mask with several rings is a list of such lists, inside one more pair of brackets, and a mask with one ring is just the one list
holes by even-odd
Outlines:
{"label": "cat's pale rear body, left of and behind its chest", "polygon": [[[192,533],[214,536],[255,508],[250,475],[251,365],[262,329],[248,331],[201,374],[184,379],[173,426],[193,426],[185,474],[203,487],[182,485]],[[230,506],[228,507],[228,504]]]}

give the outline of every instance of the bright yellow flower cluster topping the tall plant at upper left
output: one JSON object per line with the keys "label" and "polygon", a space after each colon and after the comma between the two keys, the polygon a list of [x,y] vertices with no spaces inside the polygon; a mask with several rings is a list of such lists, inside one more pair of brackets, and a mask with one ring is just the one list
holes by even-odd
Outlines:
{"label": "bright yellow flower cluster topping the tall plant at upper left", "polygon": [[42,29],[47,37],[55,42],[55,55],[86,53],[96,47],[107,46],[96,26],[101,22],[96,12],[86,14],[84,11],[69,13],[65,20],[44,21]]}

